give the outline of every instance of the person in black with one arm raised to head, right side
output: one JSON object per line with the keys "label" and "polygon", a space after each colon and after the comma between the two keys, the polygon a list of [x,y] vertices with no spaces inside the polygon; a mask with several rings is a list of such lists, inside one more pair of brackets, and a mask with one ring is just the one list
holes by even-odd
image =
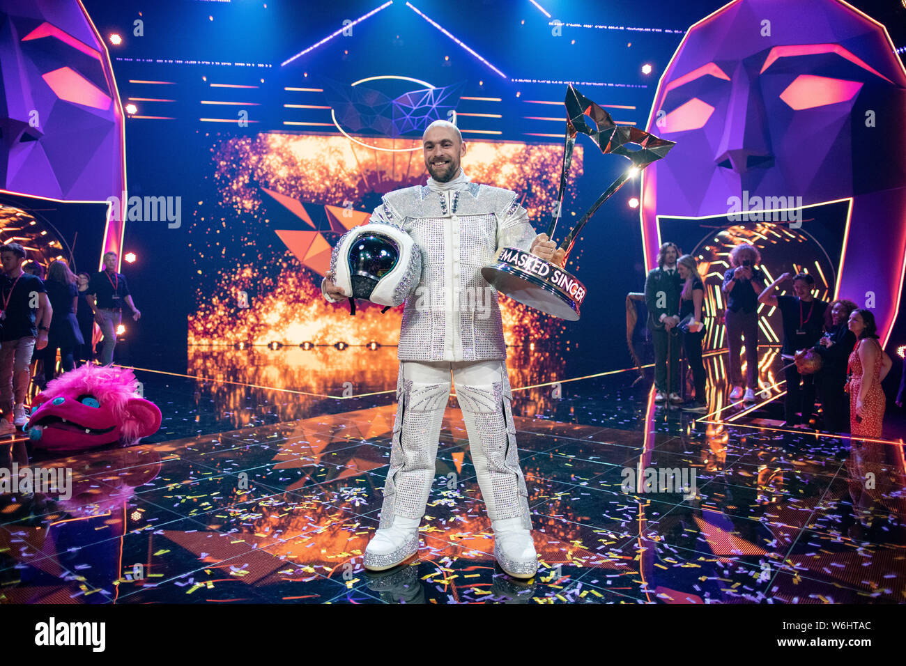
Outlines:
{"label": "person in black with one arm raised to head, right side", "polygon": [[[812,295],[814,277],[807,273],[799,273],[793,278],[795,296],[773,295],[776,286],[789,278],[790,274],[785,273],[767,285],[765,291],[758,296],[758,302],[780,309],[784,325],[784,345],[780,351],[780,358],[787,364],[784,370],[786,375],[784,425],[787,428],[805,430],[814,411],[814,375],[799,373],[795,366],[795,354],[818,342],[824,326],[824,311],[827,304]],[[802,414],[802,420],[798,416],[799,413]]]}

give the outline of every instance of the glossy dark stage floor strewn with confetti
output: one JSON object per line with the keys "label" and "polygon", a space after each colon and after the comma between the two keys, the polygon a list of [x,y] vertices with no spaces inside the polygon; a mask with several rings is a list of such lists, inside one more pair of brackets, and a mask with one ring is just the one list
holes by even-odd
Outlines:
{"label": "glossy dark stage floor strewn with confetti", "polygon": [[[190,362],[188,374],[216,369],[207,381],[138,371],[165,418],[139,446],[48,458],[24,437],[3,442],[7,463],[72,468],[72,497],[0,496],[0,602],[906,602],[899,434],[779,428],[778,359],[744,410],[723,397],[720,353],[709,414],[656,406],[633,370],[529,384],[516,358],[538,574],[520,583],[495,566],[455,398],[419,554],[368,574],[396,409],[384,352],[350,356],[371,374],[350,371],[347,395],[329,372],[280,388],[267,381],[279,363],[262,359],[255,376],[221,376],[216,354]],[[888,431],[902,431],[892,410]],[[692,487],[623,492],[648,468],[685,470]]]}

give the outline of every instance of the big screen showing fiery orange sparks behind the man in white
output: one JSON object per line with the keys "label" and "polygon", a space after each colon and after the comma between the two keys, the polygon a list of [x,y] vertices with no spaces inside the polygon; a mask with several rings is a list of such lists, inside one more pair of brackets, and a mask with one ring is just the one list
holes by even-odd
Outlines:
{"label": "big screen showing fiery orange sparks behind the man in white", "polygon": [[[351,317],[345,304],[324,301],[320,285],[326,248],[336,243],[342,226],[367,219],[364,214],[381,203],[382,194],[425,182],[421,152],[374,150],[333,136],[267,133],[211,140],[215,169],[204,191],[213,201],[198,201],[189,231],[197,281],[188,343],[398,343],[402,306],[381,314],[380,306],[359,302],[360,312]],[[419,141],[386,139],[376,145],[412,148]],[[582,175],[582,156],[576,147],[572,179]],[[468,141],[463,169],[476,182],[522,193],[523,206],[541,229],[553,208],[551,174],[562,157],[559,145]],[[572,203],[564,202],[564,209]],[[323,214],[325,206],[350,210],[349,219],[334,215],[332,221]],[[323,219],[315,211],[322,211]],[[287,247],[277,232],[302,233],[288,227],[303,229],[310,243]],[[581,259],[580,251],[573,255],[571,265]],[[556,339],[564,332],[560,320],[505,296],[500,304],[509,345]]]}

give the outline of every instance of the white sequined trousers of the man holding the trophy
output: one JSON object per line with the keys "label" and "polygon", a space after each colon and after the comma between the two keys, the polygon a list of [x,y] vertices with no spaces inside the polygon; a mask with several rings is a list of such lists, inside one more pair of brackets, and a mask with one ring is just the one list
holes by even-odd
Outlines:
{"label": "white sequined trousers of the man holding the trophy", "polygon": [[487,516],[491,520],[519,517],[526,529],[532,529],[528,491],[516,449],[512,392],[502,360],[400,362],[381,527],[389,527],[394,515],[425,515],[451,384],[466,423],[469,452]]}

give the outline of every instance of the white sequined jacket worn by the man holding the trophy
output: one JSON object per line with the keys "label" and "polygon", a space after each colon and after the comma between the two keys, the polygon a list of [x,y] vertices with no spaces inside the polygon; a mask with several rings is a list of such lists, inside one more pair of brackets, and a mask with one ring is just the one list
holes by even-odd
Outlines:
{"label": "white sequined jacket worn by the man holding the trophy", "polygon": [[528,251],[535,239],[516,193],[466,181],[444,191],[398,189],[382,199],[371,223],[400,227],[422,256],[421,280],[403,309],[400,361],[506,359],[497,292],[481,268],[493,263],[500,247]]}

